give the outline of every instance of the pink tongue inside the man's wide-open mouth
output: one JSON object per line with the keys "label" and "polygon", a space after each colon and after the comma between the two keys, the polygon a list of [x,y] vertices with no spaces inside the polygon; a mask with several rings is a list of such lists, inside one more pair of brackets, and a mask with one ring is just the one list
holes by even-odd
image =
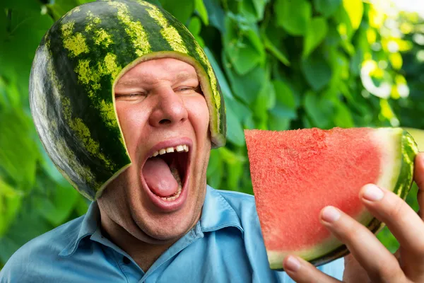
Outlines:
{"label": "pink tongue inside the man's wide-open mouth", "polygon": [[143,166],[143,176],[148,187],[155,195],[169,197],[178,190],[178,183],[170,171],[170,167],[162,158],[148,158]]}

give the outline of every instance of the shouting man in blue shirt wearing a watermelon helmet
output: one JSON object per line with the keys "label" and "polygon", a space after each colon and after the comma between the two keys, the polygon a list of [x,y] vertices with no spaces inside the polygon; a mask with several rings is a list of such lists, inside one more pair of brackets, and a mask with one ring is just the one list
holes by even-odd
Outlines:
{"label": "shouting man in blue shirt wearing a watermelon helmet", "polygon": [[[135,15],[141,15],[137,21]],[[170,40],[161,43],[162,50],[155,45],[160,40],[134,41],[134,35],[152,36],[148,28],[153,20],[157,36]],[[318,270],[292,256],[284,260],[287,273],[270,270],[253,197],[206,185],[209,151],[222,146],[225,136],[220,126],[225,116],[219,111],[223,101],[196,42],[172,21],[142,1],[102,1],[73,10],[47,33],[31,81],[35,124],[59,170],[96,201],[86,216],[20,248],[1,271],[0,282],[289,282],[288,275],[297,282],[341,279],[341,260]],[[118,23],[129,36],[113,50],[116,57],[103,52],[110,51],[113,40],[102,45],[93,37],[84,48],[89,39],[81,38],[91,32],[101,33],[103,40],[118,37],[112,30]],[[124,69],[115,72],[112,67],[119,64]],[[74,77],[73,88],[66,87],[66,76]],[[78,112],[84,101],[107,105],[107,99],[119,120],[117,137],[117,121],[101,124],[105,107],[94,104],[91,112]],[[99,123],[92,121],[96,111]],[[49,123],[53,117],[56,124]],[[107,155],[102,151],[107,144],[101,142],[114,144],[116,151]],[[120,146],[131,163],[125,163]],[[423,170],[424,156],[418,155],[420,187]],[[396,259],[365,227],[326,207],[322,223],[355,257],[346,258],[346,282],[423,282],[423,219],[396,195],[373,185],[365,186],[360,197],[392,229],[401,252]],[[423,194],[418,197],[423,205]]]}

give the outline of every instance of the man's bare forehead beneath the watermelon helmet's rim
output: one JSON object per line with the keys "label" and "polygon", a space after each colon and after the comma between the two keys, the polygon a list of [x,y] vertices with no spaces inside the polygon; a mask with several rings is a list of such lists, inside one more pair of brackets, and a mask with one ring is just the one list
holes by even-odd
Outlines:
{"label": "man's bare forehead beneath the watermelon helmet's rim", "polygon": [[155,83],[157,81],[184,81],[197,79],[196,69],[186,62],[173,58],[151,59],[137,64],[117,81],[122,85],[131,81]]}

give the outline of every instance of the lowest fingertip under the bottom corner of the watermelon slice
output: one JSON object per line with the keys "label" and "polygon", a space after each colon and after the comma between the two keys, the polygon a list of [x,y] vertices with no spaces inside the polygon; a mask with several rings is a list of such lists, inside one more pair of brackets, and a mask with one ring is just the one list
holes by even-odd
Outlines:
{"label": "lowest fingertip under the bottom corner of the watermelon slice", "polygon": [[298,283],[336,283],[341,282],[326,275],[310,262],[294,255],[288,255],[283,260],[284,271]]}

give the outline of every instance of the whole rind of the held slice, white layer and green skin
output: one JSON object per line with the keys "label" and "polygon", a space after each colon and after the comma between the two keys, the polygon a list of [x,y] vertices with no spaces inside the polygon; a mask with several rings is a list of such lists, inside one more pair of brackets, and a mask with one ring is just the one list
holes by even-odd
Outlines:
{"label": "whole rind of the held slice, white layer and green skin", "polygon": [[[391,190],[405,200],[413,182],[414,159],[418,153],[416,142],[411,137],[411,134],[401,128],[375,129],[372,131],[372,140],[379,145],[379,148],[384,149],[386,153],[391,153],[390,155],[384,155],[386,158],[382,158],[381,168],[384,171],[376,185]],[[367,212],[365,207],[363,212],[360,212],[355,219],[375,234],[384,228],[384,223]],[[286,252],[267,250],[266,252],[269,266],[273,270],[283,270],[283,259],[289,254],[298,255],[313,265],[319,266],[349,253],[346,246],[332,235],[326,238],[323,243],[303,250]]]}

